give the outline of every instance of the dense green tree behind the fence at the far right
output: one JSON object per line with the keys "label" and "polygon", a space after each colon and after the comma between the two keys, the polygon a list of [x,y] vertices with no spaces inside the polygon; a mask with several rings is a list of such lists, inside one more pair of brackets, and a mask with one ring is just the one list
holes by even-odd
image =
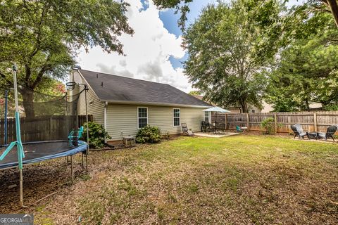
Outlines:
{"label": "dense green tree behind the fence at the far right", "polygon": [[338,30],[332,20],[315,12],[294,24],[265,91],[265,101],[276,111],[309,110],[313,102],[338,103]]}

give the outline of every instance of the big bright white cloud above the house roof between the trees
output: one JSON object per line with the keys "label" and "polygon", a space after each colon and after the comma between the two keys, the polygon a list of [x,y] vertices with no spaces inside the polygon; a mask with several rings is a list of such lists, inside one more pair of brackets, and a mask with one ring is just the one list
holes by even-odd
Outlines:
{"label": "big bright white cloud above the house roof between the trees", "polygon": [[182,38],[176,38],[163,27],[159,11],[152,1],[145,11],[140,10],[142,4],[139,0],[128,2],[127,16],[134,35],[123,34],[120,37],[127,56],[104,53],[101,48],[95,47],[89,53],[81,51],[78,58],[81,68],[171,84],[182,91],[190,91],[191,84],[184,77],[182,68],[173,68],[169,61],[169,56],[184,56]]}

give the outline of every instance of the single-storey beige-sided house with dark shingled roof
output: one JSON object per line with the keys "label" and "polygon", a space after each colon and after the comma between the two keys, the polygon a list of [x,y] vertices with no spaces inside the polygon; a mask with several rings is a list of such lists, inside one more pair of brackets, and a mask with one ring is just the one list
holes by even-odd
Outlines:
{"label": "single-storey beige-sided house with dark shingled roof", "polygon": [[[134,136],[146,124],[159,127],[163,134],[181,134],[182,122],[201,131],[203,110],[211,107],[169,84],[81,69],[71,72],[70,81],[88,85],[88,114],[104,125],[111,141]],[[84,95],[78,105],[79,115],[85,115]]]}

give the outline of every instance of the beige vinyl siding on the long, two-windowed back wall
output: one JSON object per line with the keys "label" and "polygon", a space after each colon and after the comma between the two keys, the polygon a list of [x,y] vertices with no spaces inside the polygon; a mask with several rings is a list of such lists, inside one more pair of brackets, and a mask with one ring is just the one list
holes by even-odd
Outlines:
{"label": "beige vinyl siding on the long, two-windowed back wall", "polygon": [[[115,105],[108,104],[107,108],[107,131],[111,140],[137,133],[137,107],[148,108],[148,124],[161,129],[163,133],[180,134],[181,127],[174,127],[173,108],[168,106],[153,105]],[[201,131],[201,121],[204,120],[203,108],[180,108],[180,122],[186,122],[189,129]]]}

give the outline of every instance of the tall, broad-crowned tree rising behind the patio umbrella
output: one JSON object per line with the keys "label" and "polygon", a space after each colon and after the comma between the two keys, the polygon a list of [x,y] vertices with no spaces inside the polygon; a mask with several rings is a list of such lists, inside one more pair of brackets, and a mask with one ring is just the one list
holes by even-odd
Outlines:
{"label": "tall, broad-crowned tree rising behind the patio umbrella", "polygon": [[232,1],[209,5],[183,36],[189,58],[184,72],[207,101],[217,105],[261,107],[265,63],[280,41],[277,1]]}

